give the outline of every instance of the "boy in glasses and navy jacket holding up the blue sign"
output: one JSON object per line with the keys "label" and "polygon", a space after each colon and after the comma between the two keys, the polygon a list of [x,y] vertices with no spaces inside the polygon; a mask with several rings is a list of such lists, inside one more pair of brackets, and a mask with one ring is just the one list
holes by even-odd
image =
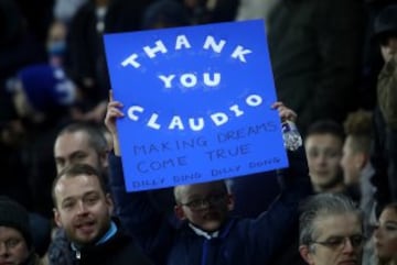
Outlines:
{"label": "boy in glasses and navy jacket holding up the blue sign", "polygon": [[[298,218],[298,203],[312,192],[304,150],[288,152],[290,166],[280,170],[281,194],[257,219],[229,216],[234,198],[223,180],[174,187],[175,216],[170,223],[152,206],[148,192],[126,191],[116,119],[125,117],[122,103],[110,97],[105,123],[114,137],[110,187],[117,214],[157,264],[256,265],[268,264],[281,246],[285,232]],[[294,120],[281,102],[272,104],[281,120]]]}

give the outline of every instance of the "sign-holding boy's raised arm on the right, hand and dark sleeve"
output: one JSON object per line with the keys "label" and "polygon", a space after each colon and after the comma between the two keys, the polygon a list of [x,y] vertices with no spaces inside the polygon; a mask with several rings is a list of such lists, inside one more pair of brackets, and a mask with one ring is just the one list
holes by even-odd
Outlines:
{"label": "sign-holding boy's raised arm on the right, hand and dark sleeve", "polygon": [[[281,121],[296,121],[296,112],[281,102],[276,102],[272,108],[278,110]],[[264,264],[282,246],[288,238],[286,233],[298,223],[299,202],[312,194],[303,146],[297,151],[287,151],[287,155],[289,167],[278,170],[280,195],[266,212],[248,223],[247,242],[253,243],[254,254],[258,253]]]}

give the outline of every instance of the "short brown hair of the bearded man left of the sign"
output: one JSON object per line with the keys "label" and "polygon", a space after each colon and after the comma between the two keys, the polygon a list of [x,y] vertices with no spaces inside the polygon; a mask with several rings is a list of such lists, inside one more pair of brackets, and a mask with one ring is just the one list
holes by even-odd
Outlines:
{"label": "short brown hair of the bearded man left of the sign", "polygon": [[60,174],[57,174],[56,178],[53,181],[52,197],[53,197],[53,203],[54,203],[55,208],[56,208],[55,186],[60,181],[60,179],[64,176],[65,177],[77,177],[81,175],[96,177],[99,181],[100,189],[104,191],[104,194],[108,194],[108,189],[105,184],[104,176],[97,169],[95,169],[93,166],[87,165],[87,164],[72,164],[72,165],[65,167],[64,169],[62,169],[60,172]]}

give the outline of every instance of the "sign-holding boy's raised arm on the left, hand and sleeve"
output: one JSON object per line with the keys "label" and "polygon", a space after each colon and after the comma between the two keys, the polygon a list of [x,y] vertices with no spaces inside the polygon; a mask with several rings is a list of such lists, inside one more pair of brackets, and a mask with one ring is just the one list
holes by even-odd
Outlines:
{"label": "sign-holding boy's raised arm on the left, hand and sleeve", "polygon": [[163,212],[159,212],[152,205],[149,192],[126,191],[116,126],[116,120],[125,117],[121,108],[122,103],[115,101],[110,91],[105,124],[114,141],[114,153],[109,155],[109,185],[115,200],[116,214],[147,254],[157,264],[164,264],[168,246],[172,241],[173,228],[167,221]]}

